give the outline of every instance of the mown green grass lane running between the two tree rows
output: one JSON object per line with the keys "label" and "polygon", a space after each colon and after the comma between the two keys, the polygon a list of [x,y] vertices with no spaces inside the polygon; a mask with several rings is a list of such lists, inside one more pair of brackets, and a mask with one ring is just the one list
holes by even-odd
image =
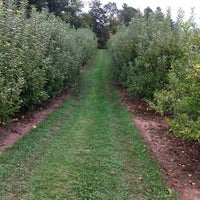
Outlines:
{"label": "mown green grass lane running between the two tree rows", "polygon": [[111,82],[98,50],[64,105],[0,157],[0,197],[168,200],[158,164]]}

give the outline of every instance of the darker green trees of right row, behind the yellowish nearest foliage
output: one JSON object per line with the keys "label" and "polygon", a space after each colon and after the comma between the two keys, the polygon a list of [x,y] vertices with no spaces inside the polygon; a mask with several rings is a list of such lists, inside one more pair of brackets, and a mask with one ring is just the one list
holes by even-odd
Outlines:
{"label": "darker green trees of right row, behind the yellowish nearest foliage", "polygon": [[115,75],[133,96],[152,98],[156,89],[167,82],[167,71],[182,51],[170,14],[152,13],[148,19],[138,16],[112,38],[110,49]]}

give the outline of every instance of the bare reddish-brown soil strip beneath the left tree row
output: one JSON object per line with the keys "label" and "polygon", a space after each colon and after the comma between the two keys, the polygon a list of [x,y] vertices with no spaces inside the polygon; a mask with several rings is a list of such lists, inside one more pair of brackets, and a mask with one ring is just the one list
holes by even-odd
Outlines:
{"label": "bare reddish-brown soil strip beneath the left tree row", "polygon": [[14,119],[15,122],[9,125],[0,125],[0,154],[8,147],[11,147],[20,137],[28,133],[37,124],[42,122],[45,117],[60,107],[64,100],[67,99],[74,89],[63,92],[61,95],[49,99],[49,103],[39,107],[35,111],[29,111],[25,114],[18,114],[19,117]]}

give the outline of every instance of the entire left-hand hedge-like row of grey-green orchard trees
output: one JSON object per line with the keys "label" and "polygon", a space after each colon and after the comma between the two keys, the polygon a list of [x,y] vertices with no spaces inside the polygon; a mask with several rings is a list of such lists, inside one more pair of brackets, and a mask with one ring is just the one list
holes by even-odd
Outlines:
{"label": "entire left-hand hedge-like row of grey-green orchard trees", "polygon": [[88,29],[72,29],[26,2],[0,5],[0,122],[21,108],[34,108],[68,88],[97,42]]}

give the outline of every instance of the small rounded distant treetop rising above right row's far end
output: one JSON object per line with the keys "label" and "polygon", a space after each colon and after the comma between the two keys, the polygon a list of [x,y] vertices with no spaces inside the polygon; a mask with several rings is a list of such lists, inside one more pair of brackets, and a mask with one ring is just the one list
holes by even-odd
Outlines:
{"label": "small rounded distant treetop rising above right row's far end", "polygon": [[130,7],[126,3],[124,3],[122,6],[122,10],[120,11],[120,21],[128,26],[131,19],[136,15],[138,15],[138,11],[135,8]]}

